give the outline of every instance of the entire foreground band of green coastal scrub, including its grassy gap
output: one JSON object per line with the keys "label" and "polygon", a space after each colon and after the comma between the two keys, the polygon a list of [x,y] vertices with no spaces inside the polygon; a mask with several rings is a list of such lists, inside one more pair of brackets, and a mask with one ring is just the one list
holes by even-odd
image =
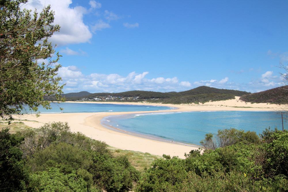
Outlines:
{"label": "entire foreground band of green coastal scrub, including its grassy gap", "polygon": [[[211,143],[214,143],[211,145]],[[62,122],[0,132],[1,191],[287,191],[288,132],[207,134],[185,159],[113,149]],[[143,163],[141,163],[143,162]],[[136,168],[134,167],[136,166]]]}

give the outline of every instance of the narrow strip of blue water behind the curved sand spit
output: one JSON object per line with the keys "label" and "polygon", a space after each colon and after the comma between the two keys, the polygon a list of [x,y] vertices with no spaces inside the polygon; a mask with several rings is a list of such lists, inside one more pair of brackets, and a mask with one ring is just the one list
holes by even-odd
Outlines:
{"label": "narrow strip of blue water behind the curved sand spit", "polygon": [[[160,111],[170,110],[171,107],[149,105],[118,105],[102,103],[51,103],[52,109],[39,107],[41,113],[92,113],[92,112],[123,112],[123,111]],[[59,107],[64,108],[63,111]]]}

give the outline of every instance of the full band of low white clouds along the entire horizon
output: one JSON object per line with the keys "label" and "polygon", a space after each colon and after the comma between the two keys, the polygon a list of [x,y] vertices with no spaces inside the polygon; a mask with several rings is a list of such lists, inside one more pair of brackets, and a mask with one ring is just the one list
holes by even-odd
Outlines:
{"label": "full band of low white clouds along the entire horizon", "polygon": [[189,81],[179,81],[177,77],[147,77],[149,72],[136,73],[135,71],[127,74],[101,74],[91,73],[88,75],[82,72],[76,66],[62,67],[59,69],[59,76],[62,77],[63,83],[67,83],[64,91],[78,92],[123,92],[130,90],[146,90],[146,91],[185,91],[196,88],[201,85],[220,89],[234,89],[248,92],[257,92],[259,90],[267,90],[284,85],[281,75],[263,73],[259,77],[255,77],[250,82],[233,82],[228,77],[220,80],[210,79],[195,81],[193,84]]}

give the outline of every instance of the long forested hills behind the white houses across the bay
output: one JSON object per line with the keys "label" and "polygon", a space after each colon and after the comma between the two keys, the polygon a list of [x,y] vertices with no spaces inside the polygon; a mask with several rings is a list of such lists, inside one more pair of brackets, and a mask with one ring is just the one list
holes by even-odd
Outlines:
{"label": "long forested hills behind the white houses across the bay", "polygon": [[[63,94],[66,100],[82,100],[102,98],[104,100],[106,97],[111,98],[111,100],[125,100],[125,101],[135,101],[137,100],[149,100],[151,102],[163,102],[163,103],[191,103],[191,102],[208,102],[210,100],[227,100],[233,99],[234,96],[242,96],[249,94],[245,91],[238,90],[227,90],[227,89],[217,89],[207,86],[200,86],[188,91],[183,92],[153,92],[153,91],[127,91],[120,93],[93,93],[93,94],[80,94],[79,93],[68,93]],[[86,92],[88,93],[88,92]],[[104,99],[103,99],[104,98]],[[129,99],[130,98],[130,99]],[[131,99],[133,98],[133,99]]]}

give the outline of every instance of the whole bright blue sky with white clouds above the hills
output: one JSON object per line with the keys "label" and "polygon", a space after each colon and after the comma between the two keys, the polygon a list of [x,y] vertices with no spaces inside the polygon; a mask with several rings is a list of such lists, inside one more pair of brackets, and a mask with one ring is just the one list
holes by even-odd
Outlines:
{"label": "whole bright blue sky with white clouds above the hills", "polygon": [[22,8],[49,4],[65,93],[284,85],[288,1],[29,0]]}

